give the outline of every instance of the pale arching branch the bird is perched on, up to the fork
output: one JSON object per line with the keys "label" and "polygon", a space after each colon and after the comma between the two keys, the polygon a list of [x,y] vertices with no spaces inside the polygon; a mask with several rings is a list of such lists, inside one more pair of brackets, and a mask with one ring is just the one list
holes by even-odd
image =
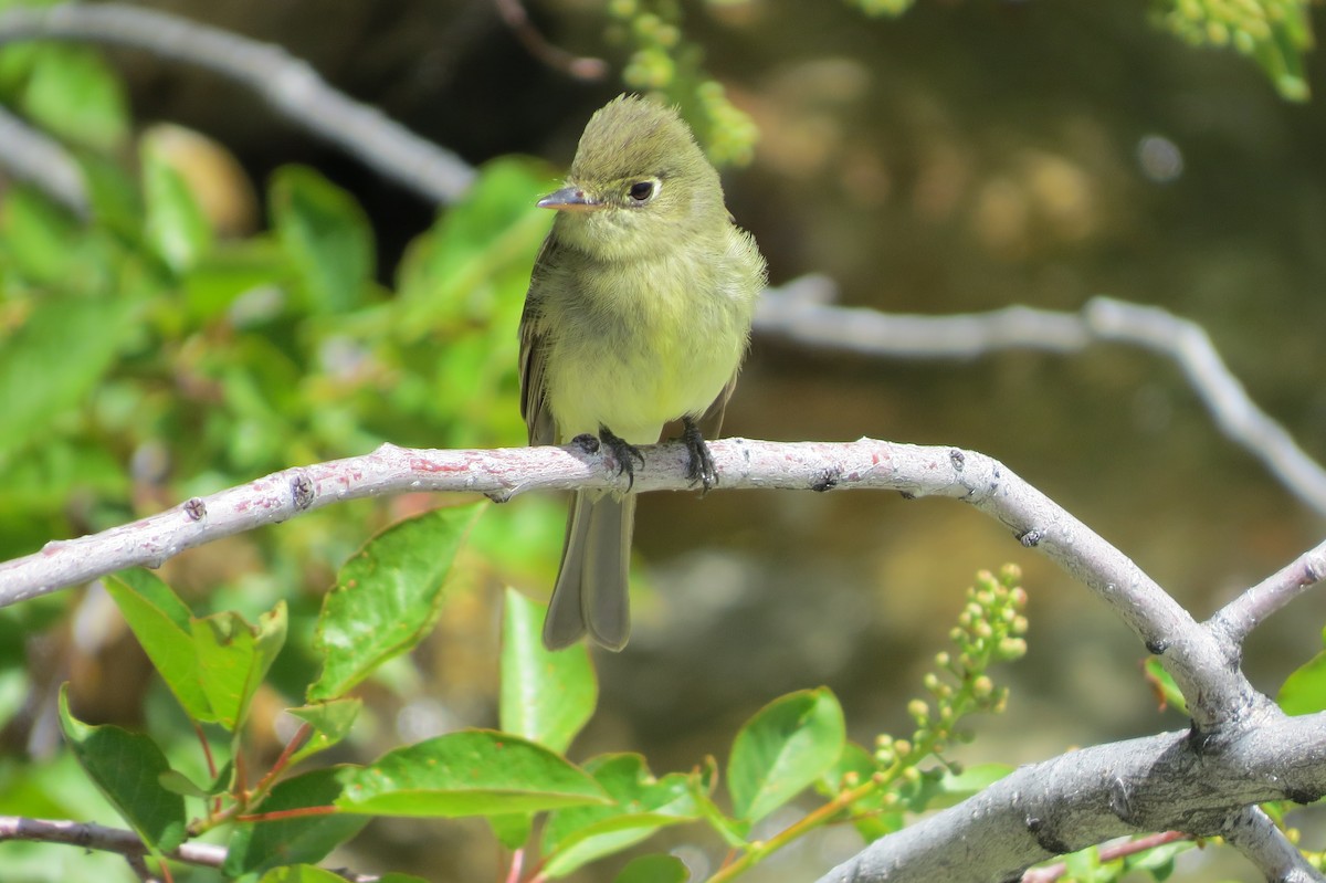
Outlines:
{"label": "pale arching branch the bird is perched on, up to the fork", "polygon": [[[724,439],[709,447],[728,489],[873,488],[969,502],[1086,583],[1151,652],[1162,655],[1199,728],[1268,701],[1233,664],[1237,647],[1215,640],[1127,556],[992,457],[873,439]],[[691,487],[684,445],[644,449],[647,461],[635,469],[636,491]],[[430,451],[385,444],[359,457],[276,472],[98,534],[52,541],[34,554],[0,563],[0,606],[122,567],[159,566],[184,549],[342,500],[410,491],[468,491],[507,500],[525,491],[570,488],[626,491],[627,479],[606,452],[586,453],[577,445]]]}

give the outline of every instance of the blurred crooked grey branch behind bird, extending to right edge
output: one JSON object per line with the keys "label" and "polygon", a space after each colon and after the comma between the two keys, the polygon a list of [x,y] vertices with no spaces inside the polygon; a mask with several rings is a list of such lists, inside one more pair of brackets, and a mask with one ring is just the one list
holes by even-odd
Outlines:
{"label": "blurred crooked grey branch behind bird, extending to right edge", "polygon": [[1207,331],[1155,306],[1094,297],[1077,313],[1008,306],[968,316],[907,316],[834,306],[833,282],[813,276],[761,298],[760,334],[818,350],[890,358],[975,358],[1000,350],[1078,353],[1127,343],[1172,361],[1216,426],[1302,502],[1326,514],[1326,468],[1249,398]]}

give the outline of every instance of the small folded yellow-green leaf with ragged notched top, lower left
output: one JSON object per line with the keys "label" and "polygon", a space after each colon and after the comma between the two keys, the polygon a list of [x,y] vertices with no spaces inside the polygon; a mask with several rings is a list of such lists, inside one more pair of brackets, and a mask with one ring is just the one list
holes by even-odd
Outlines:
{"label": "small folded yellow-green leaf with ragged notched top, lower left", "polygon": [[221,727],[235,732],[248,717],[253,693],[285,644],[286,613],[281,601],[259,624],[235,611],[194,620],[194,643],[203,692]]}

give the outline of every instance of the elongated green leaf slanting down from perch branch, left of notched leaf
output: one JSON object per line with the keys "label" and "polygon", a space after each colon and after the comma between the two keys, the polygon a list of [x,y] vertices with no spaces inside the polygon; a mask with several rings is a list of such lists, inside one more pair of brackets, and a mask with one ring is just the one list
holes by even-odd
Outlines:
{"label": "elongated green leaf slanting down from perch branch, left of notched leaf", "polygon": [[184,602],[147,570],[122,570],[107,577],[105,585],[184,713],[198,721],[215,723],[216,716],[199,679],[192,613]]}

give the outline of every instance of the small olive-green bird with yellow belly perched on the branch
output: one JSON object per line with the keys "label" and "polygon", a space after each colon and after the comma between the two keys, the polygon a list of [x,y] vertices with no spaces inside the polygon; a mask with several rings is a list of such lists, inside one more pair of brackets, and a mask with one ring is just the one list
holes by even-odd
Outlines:
{"label": "small olive-green bird with yellow belly perched on the branch", "polygon": [[[601,442],[633,473],[638,444],[682,419],[688,475],[717,481],[715,438],[765,282],[719,174],[675,110],[622,95],[585,126],[534,261],[520,322],[520,400],[530,444]],[[587,436],[587,438],[586,438]],[[589,634],[621,650],[634,495],[579,491],[544,622],[550,650]]]}

